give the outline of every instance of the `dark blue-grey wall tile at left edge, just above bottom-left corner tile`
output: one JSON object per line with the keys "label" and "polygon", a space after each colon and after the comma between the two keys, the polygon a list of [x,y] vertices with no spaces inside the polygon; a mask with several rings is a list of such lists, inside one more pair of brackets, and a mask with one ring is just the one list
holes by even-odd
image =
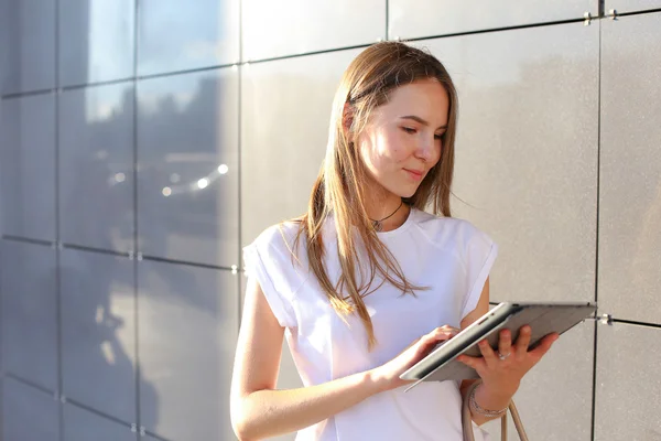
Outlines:
{"label": "dark blue-grey wall tile at left edge, just above bottom-left corner tile", "polygon": [[0,249],[3,369],[57,390],[55,250],[3,240]]}

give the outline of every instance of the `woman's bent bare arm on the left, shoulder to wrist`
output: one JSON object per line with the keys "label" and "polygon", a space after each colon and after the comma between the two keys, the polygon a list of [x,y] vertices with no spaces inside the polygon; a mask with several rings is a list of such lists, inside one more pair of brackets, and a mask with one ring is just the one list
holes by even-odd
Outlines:
{"label": "woman's bent bare arm on the left, shoulder to wrist", "polygon": [[231,383],[231,423],[239,440],[260,440],[323,421],[382,390],[372,372],[317,386],[274,390],[284,329],[249,279]]}

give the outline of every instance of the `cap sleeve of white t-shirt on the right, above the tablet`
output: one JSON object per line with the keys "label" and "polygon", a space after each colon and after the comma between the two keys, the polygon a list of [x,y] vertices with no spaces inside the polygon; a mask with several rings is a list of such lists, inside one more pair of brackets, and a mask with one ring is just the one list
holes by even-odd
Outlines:
{"label": "cap sleeve of white t-shirt on the right, above the tablet", "polygon": [[[468,224],[469,225],[469,224]],[[498,245],[484,232],[469,225],[466,238],[465,265],[468,291],[462,308],[462,319],[477,306],[489,271],[498,256]]]}

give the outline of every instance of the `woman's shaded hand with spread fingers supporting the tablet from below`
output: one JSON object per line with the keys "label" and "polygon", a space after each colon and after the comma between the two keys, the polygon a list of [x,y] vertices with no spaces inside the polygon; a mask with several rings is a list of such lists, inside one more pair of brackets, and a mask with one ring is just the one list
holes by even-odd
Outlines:
{"label": "woman's shaded hand with spread fingers supporting the tablet from below", "polygon": [[[495,352],[489,343],[483,340],[479,342],[481,357],[459,355],[457,359],[473,367],[489,390],[503,395],[514,395],[521,378],[542,359],[553,342],[560,336],[555,332],[548,334],[538,347],[529,352],[531,332],[530,325],[521,326],[519,338],[512,345],[511,332],[502,330],[500,331],[498,352]],[[502,358],[499,357],[499,354],[502,355]]]}

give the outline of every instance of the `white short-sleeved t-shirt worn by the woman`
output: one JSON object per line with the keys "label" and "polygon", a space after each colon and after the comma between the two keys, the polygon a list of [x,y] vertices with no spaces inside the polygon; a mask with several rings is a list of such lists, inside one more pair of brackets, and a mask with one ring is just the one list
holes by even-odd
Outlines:
{"label": "white short-sleeved t-shirt worn by the woman", "polygon": [[[299,224],[266,229],[243,248],[246,270],[256,277],[273,314],[285,327],[292,357],[305,386],[318,385],[380,366],[415,338],[444,324],[459,327],[479,300],[498,246],[468,220],[411,209],[399,228],[378,233],[407,280],[431,287],[416,297],[390,283],[365,297],[377,346],[369,352],[360,320],[348,326],[332,309],[308,269],[305,237],[292,263]],[[325,268],[334,283],[340,273],[334,219],[323,229]],[[375,279],[375,287],[380,282]],[[422,383],[380,392],[317,424],[299,431],[296,441],[429,440],[460,441],[459,381]],[[476,440],[488,433],[473,424]]]}

